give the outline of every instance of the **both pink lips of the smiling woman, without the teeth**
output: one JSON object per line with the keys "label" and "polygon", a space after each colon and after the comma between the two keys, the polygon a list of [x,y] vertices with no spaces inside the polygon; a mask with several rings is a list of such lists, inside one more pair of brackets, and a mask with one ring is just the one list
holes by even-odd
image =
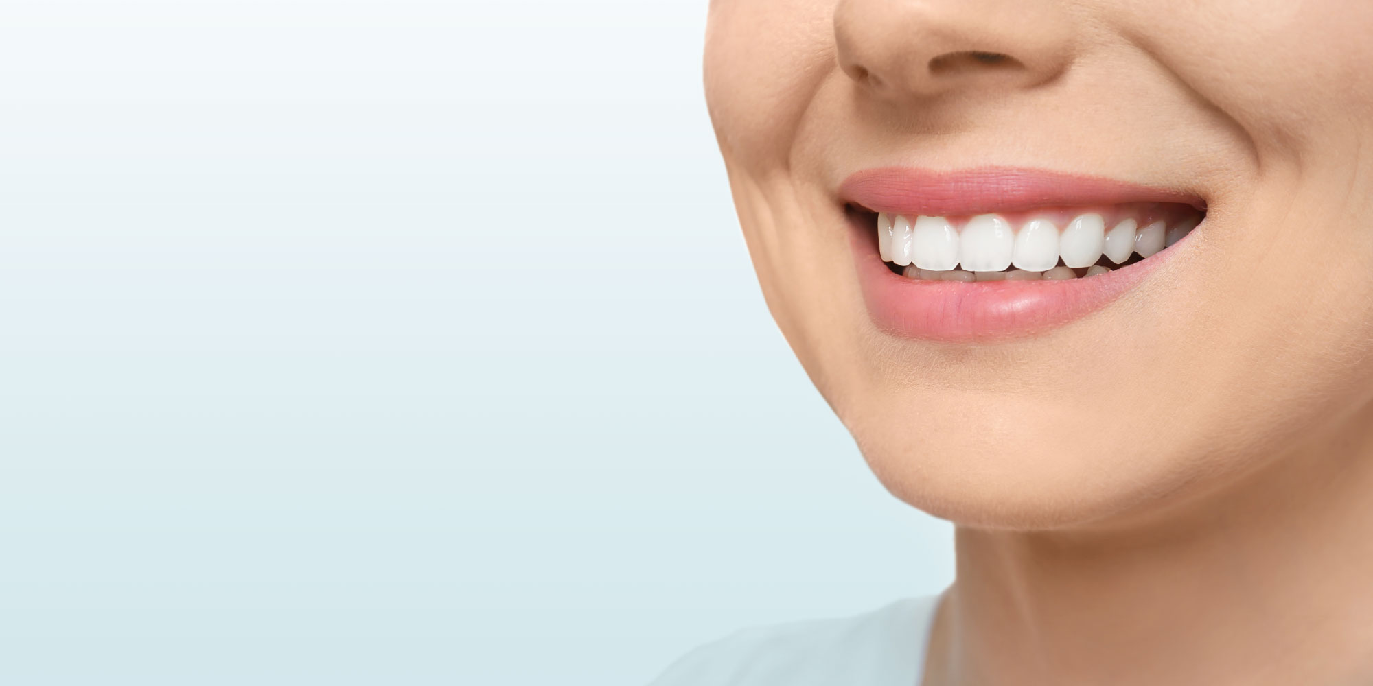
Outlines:
{"label": "both pink lips of the smiling woman, without the teeth", "polygon": [[[1037,207],[1137,202],[1192,204],[1196,195],[1056,172],[984,167],[941,173],[886,167],[844,180],[840,195],[868,210],[969,215]],[[877,255],[875,226],[853,221],[851,244],[868,314],[888,333],[949,343],[1043,332],[1086,317],[1138,285],[1175,247],[1105,274],[1054,281],[931,281],[892,273]]]}

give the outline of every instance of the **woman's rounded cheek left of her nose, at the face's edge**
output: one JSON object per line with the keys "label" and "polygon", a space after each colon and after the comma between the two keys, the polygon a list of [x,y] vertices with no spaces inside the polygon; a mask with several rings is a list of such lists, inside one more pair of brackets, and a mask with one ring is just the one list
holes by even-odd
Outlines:
{"label": "woman's rounded cheek left of her nose, at the face's edge", "polygon": [[706,103],[719,145],[750,170],[781,166],[820,84],[836,71],[832,3],[717,0]]}

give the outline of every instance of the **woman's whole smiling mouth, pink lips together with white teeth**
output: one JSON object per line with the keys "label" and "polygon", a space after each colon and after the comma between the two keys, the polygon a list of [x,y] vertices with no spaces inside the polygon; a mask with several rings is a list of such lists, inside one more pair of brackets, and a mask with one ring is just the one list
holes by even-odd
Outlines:
{"label": "woman's whole smiling mouth, pink lips together with white teeth", "polygon": [[836,193],[879,329],[946,343],[1034,336],[1144,284],[1204,226],[1207,202],[1060,172],[877,167]]}

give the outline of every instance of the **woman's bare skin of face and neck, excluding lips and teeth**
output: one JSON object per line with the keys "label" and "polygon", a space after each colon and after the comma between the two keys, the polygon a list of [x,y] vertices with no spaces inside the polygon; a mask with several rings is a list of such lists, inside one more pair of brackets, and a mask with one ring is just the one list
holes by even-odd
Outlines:
{"label": "woman's bare skin of face and neck, excluding lips and teeth", "polygon": [[[769,309],[881,483],[957,525],[927,686],[1373,683],[1370,36],[1365,0],[711,3]],[[1101,311],[921,342],[869,320],[838,193],[892,165],[1208,213]]]}

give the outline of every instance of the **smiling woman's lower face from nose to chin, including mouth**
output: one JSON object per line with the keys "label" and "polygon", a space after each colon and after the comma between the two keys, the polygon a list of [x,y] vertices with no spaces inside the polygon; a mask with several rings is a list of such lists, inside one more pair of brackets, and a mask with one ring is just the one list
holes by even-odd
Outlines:
{"label": "smiling woman's lower face from nose to chin, including mouth", "polygon": [[1083,525],[1373,394],[1370,36],[1365,0],[715,0],[706,92],[768,305],[887,488]]}

